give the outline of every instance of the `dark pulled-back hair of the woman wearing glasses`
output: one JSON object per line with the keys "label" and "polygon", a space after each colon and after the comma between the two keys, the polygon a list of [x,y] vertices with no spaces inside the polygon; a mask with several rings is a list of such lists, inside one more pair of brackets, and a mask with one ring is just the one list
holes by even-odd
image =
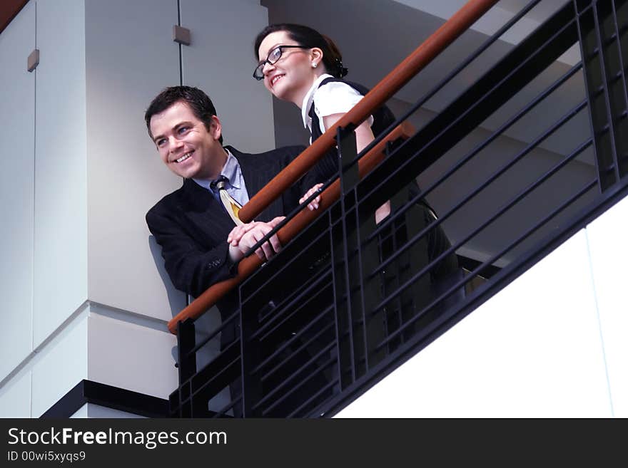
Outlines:
{"label": "dark pulled-back hair of the woman wearing glasses", "polygon": [[[277,31],[285,31],[288,33],[288,37],[297,42],[299,46],[304,47],[318,47],[323,51],[323,64],[328,73],[335,78],[343,78],[349,71],[343,67],[343,56],[338,50],[338,46],[335,45],[328,36],[324,36],[313,28],[303,26],[303,24],[271,24],[266,26],[255,38],[255,57],[258,57],[258,51],[260,50],[260,44],[266,36],[270,33]],[[264,57],[265,58],[265,57]]]}

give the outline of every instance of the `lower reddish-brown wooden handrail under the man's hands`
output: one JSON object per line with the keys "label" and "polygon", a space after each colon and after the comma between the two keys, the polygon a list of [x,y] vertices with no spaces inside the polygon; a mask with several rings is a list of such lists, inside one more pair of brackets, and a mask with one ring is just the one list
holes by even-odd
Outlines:
{"label": "lower reddish-brown wooden handrail under the man's hands", "polygon": [[[360,175],[360,179],[367,175],[384,159],[384,150],[389,141],[395,141],[400,137],[407,138],[413,133],[414,128],[412,128],[412,125],[408,122],[403,122],[390,132],[384,140],[380,141],[366,155],[361,157],[358,161],[358,174]],[[325,209],[330,207],[339,198],[340,180],[337,179],[320,194],[318,209],[313,211],[307,208],[302,209],[293,219],[290,219],[283,228],[279,229],[277,236],[281,245],[287,244],[288,241],[299,234],[308,224],[313,222],[319,214],[324,212]],[[183,311],[179,312],[168,322],[168,330],[170,330],[171,333],[176,333],[177,323],[179,321],[185,321],[187,318],[197,318],[203,315],[208,308],[218,302],[226,293],[248,278],[262,263],[263,261],[254,254],[240,261],[240,264],[238,264],[238,274],[236,276],[216,283],[210,286],[206,291],[203,291],[201,296],[198,296],[189,306],[184,308]]]}

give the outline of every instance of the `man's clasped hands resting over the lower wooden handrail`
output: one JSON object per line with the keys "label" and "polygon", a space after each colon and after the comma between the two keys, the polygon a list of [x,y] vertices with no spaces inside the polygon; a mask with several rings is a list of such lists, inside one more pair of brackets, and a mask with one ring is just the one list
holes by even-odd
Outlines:
{"label": "man's clasped hands resting over the lower wooden handrail", "polygon": [[[265,222],[250,222],[236,226],[231,233],[227,236],[229,243],[229,256],[233,261],[238,261],[243,258],[244,254],[250,250],[252,246],[258,243],[266,234],[268,234],[277,224],[279,224],[285,217],[276,217],[272,221]],[[255,254],[262,260],[268,260],[272,258],[281,250],[281,244],[277,237],[277,234],[268,239],[262,246],[255,250]]]}

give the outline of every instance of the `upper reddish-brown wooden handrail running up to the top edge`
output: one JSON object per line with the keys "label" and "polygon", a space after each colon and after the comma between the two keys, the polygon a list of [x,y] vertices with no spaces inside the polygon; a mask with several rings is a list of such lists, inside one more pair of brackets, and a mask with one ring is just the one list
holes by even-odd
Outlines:
{"label": "upper reddish-brown wooden handrail running up to the top edge", "polygon": [[405,83],[410,81],[422,68],[425,68],[439,53],[465,32],[477,19],[485,14],[497,0],[470,0],[456,12],[435,33],[418,46],[404,61],[388,73],[365,97],[360,100],[343,118],[338,120],[312,145],[305,149],[283,171],[270,180],[238,215],[243,222],[252,221],[258,214],[280,197],[288,187],[308,172],[335,144],[336,128],[358,127],[373,111],[393,97]]}

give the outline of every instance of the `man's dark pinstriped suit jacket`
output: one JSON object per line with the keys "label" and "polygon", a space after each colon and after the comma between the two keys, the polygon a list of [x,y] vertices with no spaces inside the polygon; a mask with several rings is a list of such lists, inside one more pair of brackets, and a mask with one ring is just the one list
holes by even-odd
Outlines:
{"label": "man's dark pinstriped suit jacket", "polygon": [[[305,147],[282,147],[258,155],[245,154],[233,147],[228,149],[240,163],[248,196],[253,197]],[[290,214],[306,190],[300,183],[293,185],[255,220],[268,222]],[[196,297],[212,284],[236,275],[227,244],[227,236],[235,224],[220,202],[193,180],[183,180],[180,189],[152,207],[146,214],[146,223],[161,245],[171,281],[181,291]],[[234,306],[233,297],[218,303],[223,317]]]}

